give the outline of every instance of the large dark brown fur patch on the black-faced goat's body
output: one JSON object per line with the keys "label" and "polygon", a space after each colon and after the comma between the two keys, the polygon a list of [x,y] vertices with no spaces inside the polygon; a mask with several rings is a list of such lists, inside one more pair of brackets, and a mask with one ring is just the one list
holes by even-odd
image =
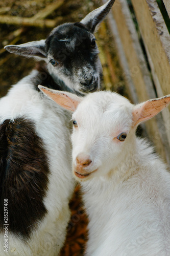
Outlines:
{"label": "large dark brown fur patch on the black-faced goat's body", "polygon": [[4,199],[8,199],[8,230],[29,238],[47,210],[43,204],[48,184],[48,163],[34,125],[23,118],[0,125],[0,230]]}

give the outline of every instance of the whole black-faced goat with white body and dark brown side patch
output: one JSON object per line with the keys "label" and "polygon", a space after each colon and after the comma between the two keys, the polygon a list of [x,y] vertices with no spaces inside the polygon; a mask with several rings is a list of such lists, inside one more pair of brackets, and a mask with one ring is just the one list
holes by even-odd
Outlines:
{"label": "whole black-faced goat with white body and dark brown side patch", "polygon": [[37,86],[76,94],[100,89],[102,68],[93,32],[113,3],[109,0],[80,23],[56,27],[46,40],[5,47],[43,59],[47,69],[33,70],[0,100],[1,256],[58,255],[65,241],[74,190],[70,117]]}

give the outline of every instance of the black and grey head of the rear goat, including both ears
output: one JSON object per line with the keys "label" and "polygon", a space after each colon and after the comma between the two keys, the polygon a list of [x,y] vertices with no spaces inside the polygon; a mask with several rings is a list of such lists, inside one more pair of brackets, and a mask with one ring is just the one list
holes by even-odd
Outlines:
{"label": "black and grey head of the rear goat, including both ears", "polygon": [[5,49],[45,60],[51,75],[63,80],[72,91],[82,94],[96,91],[100,89],[102,66],[93,33],[114,1],[109,0],[90,12],[81,22],[65,23],[54,28],[46,40],[9,45]]}

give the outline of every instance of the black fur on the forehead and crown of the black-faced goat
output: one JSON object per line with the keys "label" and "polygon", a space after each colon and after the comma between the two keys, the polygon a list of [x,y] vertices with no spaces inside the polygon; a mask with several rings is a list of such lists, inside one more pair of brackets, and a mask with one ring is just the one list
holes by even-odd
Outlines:
{"label": "black fur on the forehead and crown of the black-faced goat", "polygon": [[[61,39],[74,39],[76,35],[75,50],[70,51],[68,43]],[[59,50],[58,50],[59,49]],[[80,23],[63,24],[56,28],[46,39],[46,51],[50,51],[54,58],[60,61],[67,69],[67,72],[85,66],[89,62],[95,67],[94,63],[98,54],[91,48],[91,33]]]}

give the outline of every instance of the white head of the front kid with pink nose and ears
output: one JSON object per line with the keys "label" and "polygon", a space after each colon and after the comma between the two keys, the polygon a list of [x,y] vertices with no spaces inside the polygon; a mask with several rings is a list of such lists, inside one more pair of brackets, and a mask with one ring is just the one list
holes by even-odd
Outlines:
{"label": "white head of the front kid with pink nose and ears", "polygon": [[123,96],[96,92],[85,98],[39,87],[63,108],[73,111],[74,174],[86,180],[103,176],[135,150],[137,125],[166,108],[170,95],[133,105]]}

